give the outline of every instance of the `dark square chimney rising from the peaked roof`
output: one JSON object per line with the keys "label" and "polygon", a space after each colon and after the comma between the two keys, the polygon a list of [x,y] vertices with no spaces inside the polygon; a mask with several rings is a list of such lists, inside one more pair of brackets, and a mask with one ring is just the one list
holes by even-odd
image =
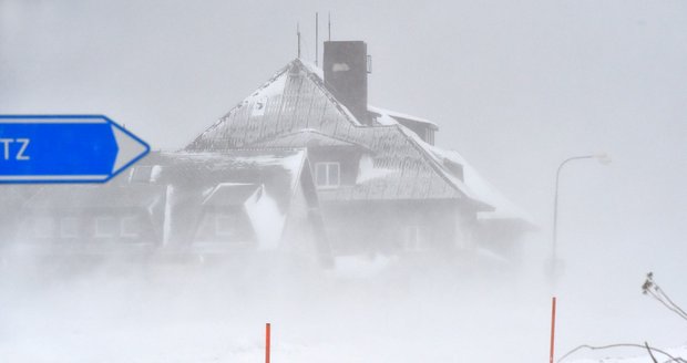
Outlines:
{"label": "dark square chimney rising from the peaked roof", "polygon": [[327,89],[362,124],[368,115],[368,56],[362,41],[327,41],[322,70]]}

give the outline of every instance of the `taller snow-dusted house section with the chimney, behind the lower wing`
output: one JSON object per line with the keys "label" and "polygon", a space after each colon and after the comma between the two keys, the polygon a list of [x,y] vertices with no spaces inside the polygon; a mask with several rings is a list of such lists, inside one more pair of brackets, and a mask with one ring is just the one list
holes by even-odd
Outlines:
{"label": "taller snow-dusted house section with the chimney, behind the lower wing", "polygon": [[307,148],[336,255],[510,248],[527,217],[433,146],[437,124],[369,106],[367,60],[365,42],[325,42],[324,70],[291,61],[185,151]]}

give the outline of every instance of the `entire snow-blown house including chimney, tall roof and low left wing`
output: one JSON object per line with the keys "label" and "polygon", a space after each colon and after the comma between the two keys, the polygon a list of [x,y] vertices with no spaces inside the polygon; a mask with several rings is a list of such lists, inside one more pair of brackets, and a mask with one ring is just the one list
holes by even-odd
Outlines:
{"label": "entire snow-blown house including chimney, tall roof and low left wing", "polygon": [[437,124],[368,104],[363,42],[325,42],[322,65],[289,62],[183,151],[152,153],[107,185],[34,187],[19,235],[325,262],[519,245],[526,214],[434,146]]}

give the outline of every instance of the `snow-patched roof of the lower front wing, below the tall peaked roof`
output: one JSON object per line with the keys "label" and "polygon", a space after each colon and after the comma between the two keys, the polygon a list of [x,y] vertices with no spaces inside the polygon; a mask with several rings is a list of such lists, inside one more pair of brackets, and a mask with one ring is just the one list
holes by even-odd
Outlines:
{"label": "snow-patched roof of the lower front wing, below the tall peaked roof", "polygon": [[186,226],[199,222],[204,207],[243,206],[259,248],[273,248],[308,167],[306,156],[305,148],[156,152],[141,164],[161,167],[155,183],[167,186],[174,200],[166,218],[176,222],[165,225],[165,236],[193,239]]}

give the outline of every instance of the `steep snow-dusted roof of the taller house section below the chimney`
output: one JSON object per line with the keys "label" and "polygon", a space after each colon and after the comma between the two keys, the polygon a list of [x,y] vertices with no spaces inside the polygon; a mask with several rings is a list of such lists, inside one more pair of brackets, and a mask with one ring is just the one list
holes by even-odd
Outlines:
{"label": "steep snow-dusted roof of the taller house section below the chimney", "polygon": [[[369,110],[380,115],[380,125],[361,125],[327,90],[321,70],[296,59],[186,149],[225,153],[245,147],[308,147],[310,143],[361,145],[372,152],[363,177],[356,185],[320,191],[320,199],[466,198],[481,210],[482,219],[531,220],[460,154],[427,144],[399,120],[435,127],[434,123],[379,107]],[[464,175],[452,172],[447,160],[461,165]]]}

